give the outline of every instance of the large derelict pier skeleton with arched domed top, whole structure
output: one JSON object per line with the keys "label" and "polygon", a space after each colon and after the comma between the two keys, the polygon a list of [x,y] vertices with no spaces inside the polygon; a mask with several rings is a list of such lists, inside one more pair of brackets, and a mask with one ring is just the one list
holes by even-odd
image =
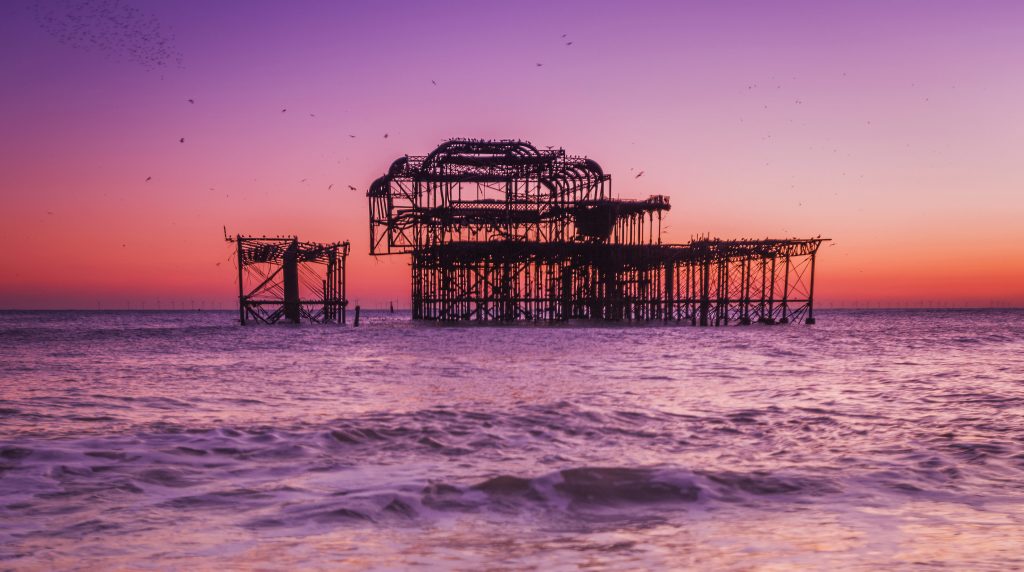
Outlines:
{"label": "large derelict pier skeleton with arched domed top, whole structure", "polygon": [[662,244],[667,196],[613,199],[562,149],[454,139],[368,196],[371,254],[412,255],[414,318],[814,322],[822,238]]}

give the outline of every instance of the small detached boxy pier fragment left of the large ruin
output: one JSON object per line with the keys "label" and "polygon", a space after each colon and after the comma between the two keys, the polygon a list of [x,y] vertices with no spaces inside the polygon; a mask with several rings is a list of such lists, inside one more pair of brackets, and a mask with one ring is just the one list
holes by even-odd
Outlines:
{"label": "small detached boxy pier fragment left of the large ruin", "polygon": [[296,236],[226,236],[237,247],[239,320],[345,323],[349,244],[301,243]]}

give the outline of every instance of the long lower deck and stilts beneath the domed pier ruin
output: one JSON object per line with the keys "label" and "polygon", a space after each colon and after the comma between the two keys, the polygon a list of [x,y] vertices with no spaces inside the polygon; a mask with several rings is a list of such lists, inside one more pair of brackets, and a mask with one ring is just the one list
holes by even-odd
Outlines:
{"label": "long lower deck and stilts beneath the domed pier ruin", "polygon": [[786,323],[813,315],[809,277],[819,244],[455,243],[413,254],[413,317]]}

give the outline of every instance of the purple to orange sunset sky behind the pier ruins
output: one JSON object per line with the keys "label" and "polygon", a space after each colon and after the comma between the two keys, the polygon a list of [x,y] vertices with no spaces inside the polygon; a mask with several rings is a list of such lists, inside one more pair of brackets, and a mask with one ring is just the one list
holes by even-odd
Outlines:
{"label": "purple to orange sunset sky behind the pier ruins", "polygon": [[830,237],[825,306],[1024,305],[1022,30],[1017,1],[5,1],[0,308],[229,308],[223,226],[350,239],[350,300],[408,307],[366,189],[452,137],[588,156],[671,197],[667,241]]}

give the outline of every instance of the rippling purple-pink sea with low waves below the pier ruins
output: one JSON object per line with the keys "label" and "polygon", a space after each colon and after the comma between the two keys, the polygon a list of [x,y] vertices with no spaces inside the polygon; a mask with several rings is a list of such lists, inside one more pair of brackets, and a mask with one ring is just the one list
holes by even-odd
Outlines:
{"label": "rippling purple-pink sea with low waves below the pier ruins", "polygon": [[1024,568],[1024,310],[816,317],[3,312],[0,570]]}

